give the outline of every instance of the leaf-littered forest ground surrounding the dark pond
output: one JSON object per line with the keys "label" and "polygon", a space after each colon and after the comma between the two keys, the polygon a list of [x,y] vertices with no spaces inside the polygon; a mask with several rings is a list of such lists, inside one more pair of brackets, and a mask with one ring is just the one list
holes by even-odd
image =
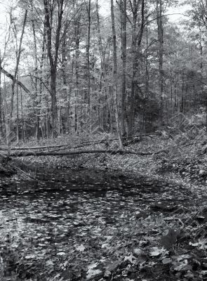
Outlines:
{"label": "leaf-littered forest ground surrounding the dark pond", "polygon": [[[40,145],[69,141],[76,143],[76,140],[65,136]],[[31,141],[24,145],[34,146],[34,143]],[[95,148],[105,148],[105,144],[78,149]],[[108,148],[116,150],[116,141],[110,141]],[[73,245],[64,244],[64,251],[59,251],[58,255],[54,251],[49,256],[45,253],[46,268],[40,264],[40,257],[36,259],[35,254],[27,253],[16,267],[18,270],[15,269],[18,275],[13,279],[2,277],[2,280],[207,280],[205,137],[197,136],[193,141],[179,138],[178,141],[163,133],[161,136],[138,138],[128,143],[126,149],[136,152],[164,151],[147,156],[105,153],[22,157],[11,162],[10,169],[18,171],[18,174],[8,178],[6,181],[9,183],[28,176],[35,178],[34,167],[48,166],[51,169],[119,171],[128,178],[138,178],[145,187],[165,188],[156,195],[152,188],[148,197],[142,198],[141,205],[132,200],[131,208],[117,217],[119,223],[107,228],[100,225],[92,236],[82,237],[78,246],[77,240],[74,240]],[[17,163],[24,174],[13,168]],[[91,226],[84,225],[84,228],[92,226],[93,221]],[[22,245],[15,247],[15,250],[10,247],[8,253],[8,242],[1,244],[1,261],[10,255],[15,256],[13,263],[18,263],[16,253]],[[29,249],[28,244],[27,247]],[[20,268],[24,268],[23,274]]]}

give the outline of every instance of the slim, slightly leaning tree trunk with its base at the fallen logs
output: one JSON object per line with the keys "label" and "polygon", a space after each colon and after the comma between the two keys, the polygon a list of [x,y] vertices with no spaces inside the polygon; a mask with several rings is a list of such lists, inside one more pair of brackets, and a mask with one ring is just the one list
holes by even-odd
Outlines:
{"label": "slim, slightly leaning tree trunk with its base at the fallen logs", "polygon": [[121,128],[119,124],[119,108],[118,108],[118,81],[117,81],[117,55],[116,55],[116,30],[114,20],[114,1],[111,0],[111,17],[112,17],[112,37],[113,37],[113,93],[114,93],[114,107],[115,107],[115,118],[116,118],[116,133],[119,138],[120,148],[123,148],[121,138]]}

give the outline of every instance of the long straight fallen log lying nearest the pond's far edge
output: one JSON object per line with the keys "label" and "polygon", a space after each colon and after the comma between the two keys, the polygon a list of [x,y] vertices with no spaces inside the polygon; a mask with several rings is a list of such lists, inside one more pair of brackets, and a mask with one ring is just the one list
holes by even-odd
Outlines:
{"label": "long straight fallen log lying nearest the pond's far edge", "polygon": [[131,155],[155,155],[167,150],[159,150],[156,152],[135,152],[131,150],[79,150],[79,151],[27,151],[27,152],[11,152],[10,157],[27,157],[27,156],[64,156],[64,155],[80,155],[80,154],[93,154],[93,153],[109,153],[116,154],[131,154]]}

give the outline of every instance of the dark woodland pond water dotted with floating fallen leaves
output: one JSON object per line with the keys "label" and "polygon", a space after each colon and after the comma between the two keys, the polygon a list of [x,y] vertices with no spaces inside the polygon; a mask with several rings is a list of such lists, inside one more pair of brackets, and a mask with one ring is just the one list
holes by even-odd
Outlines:
{"label": "dark woodland pond water dotted with floating fallen leaves", "polygon": [[118,171],[39,169],[36,178],[13,184],[0,179],[1,249],[9,240],[29,261],[54,249],[64,256],[72,245],[81,251],[83,243],[114,233],[136,211],[147,214],[154,202],[189,202],[178,185]]}

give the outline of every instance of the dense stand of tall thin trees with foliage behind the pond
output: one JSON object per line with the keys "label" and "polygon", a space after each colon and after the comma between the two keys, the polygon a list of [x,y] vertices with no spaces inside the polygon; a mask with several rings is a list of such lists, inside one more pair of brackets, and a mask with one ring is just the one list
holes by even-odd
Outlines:
{"label": "dense stand of tall thin trees with foliage behind the pond", "polygon": [[1,1],[8,145],[82,132],[117,133],[121,145],[171,126],[180,112],[205,126],[207,3],[187,4],[175,24],[171,7],[183,12],[184,1]]}

